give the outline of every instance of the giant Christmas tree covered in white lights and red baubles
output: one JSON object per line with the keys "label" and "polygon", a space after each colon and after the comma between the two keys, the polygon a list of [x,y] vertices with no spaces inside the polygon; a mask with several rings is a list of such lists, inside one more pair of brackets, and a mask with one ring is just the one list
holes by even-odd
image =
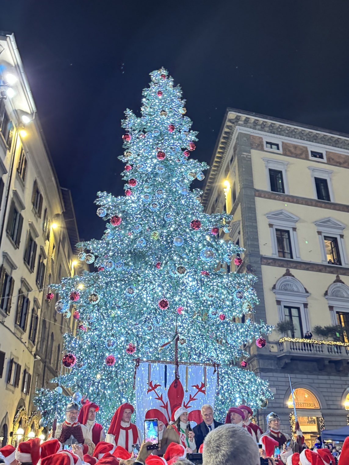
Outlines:
{"label": "giant Christmas tree covered in white lights and red baubles", "polygon": [[[221,365],[217,419],[242,399],[260,408],[272,396],[266,381],[240,368],[248,357],[242,345],[263,345],[271,328],[249,318],[258,304],[255,276],[228,272],[242,252],[219,239],[232,218],[204,213],[201,191],[190,190],[208,166],[191,158],[197,139],[185,113],[181,88],[167,71],[151,73],[141,116],[127,110],[122,121],[125,195],[98,193],[105,233],[79,244],[86,251],[79,259],[96,270],[53,286],[57,312],[69,317],[73,310],[80,320],[77,336],[65,335],[64,364],[71,368],[61,384],[101,405],[105,424],[120,404],[134,401],[134,359],[173,360],[173,343],[159,347],[176,338],[181,361]],[[47,391],[35,400],[49,421],[55,400]]]}

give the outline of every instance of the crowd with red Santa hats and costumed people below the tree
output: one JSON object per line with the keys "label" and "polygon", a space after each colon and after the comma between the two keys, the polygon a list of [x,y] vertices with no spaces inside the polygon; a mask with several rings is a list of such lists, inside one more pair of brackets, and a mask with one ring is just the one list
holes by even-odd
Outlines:
{"label": "crowd with red Santa hats and costumed people below the tree", "polygon": [[[231,407],[225,424],[214,419],[211,405],[201,407],[201,423],[193,429],[188,410],[177,406],[169,425],[158,425],[158,441],[142,441],[139,428],[131,423],[134,408],[123,404],[116,410],[107,434],[96,423],[99,406],[71,402],[66,419],[54,424],[47,441],[32,438],[17,448],[0,449],[0,464],[5,465],[349,465],[349,438],[342,449],[322,444],[314,449],[304,444],[302,432],[293,441],[280,430],[274,412],[267,416],[267,431],[251,421],[248,405]],[[153,447],[151,447],[153,446]],[[191,461],[193,460],[193,461]]]}

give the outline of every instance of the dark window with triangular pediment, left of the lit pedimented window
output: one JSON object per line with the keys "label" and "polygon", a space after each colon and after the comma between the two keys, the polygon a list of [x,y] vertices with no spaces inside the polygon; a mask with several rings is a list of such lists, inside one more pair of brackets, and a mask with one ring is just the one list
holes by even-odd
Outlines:
{"label": "dark window with triangular pediment, left of the lit pedimented window", "polygon": [[285,210],[266,215],[270,229],[273,257],[300,260],[296,223],[298,216]]}

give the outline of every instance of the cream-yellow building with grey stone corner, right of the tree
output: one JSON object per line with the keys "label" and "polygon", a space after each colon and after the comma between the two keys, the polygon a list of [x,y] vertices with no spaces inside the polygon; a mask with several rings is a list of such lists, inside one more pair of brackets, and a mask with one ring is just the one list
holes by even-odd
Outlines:
{"label": "cream-yellow building with grey stone corner, right of the tree", "polygon": [[289,429],[290,375],[310,444],[349,413],[349,136],[228,109],[210,166],[205,210],[231,213],[221,237],[245,249],[229,270],[258,277],[252,318],[281,324],[249,347],[249,369],[274,392],[257,421],[274,411]]}

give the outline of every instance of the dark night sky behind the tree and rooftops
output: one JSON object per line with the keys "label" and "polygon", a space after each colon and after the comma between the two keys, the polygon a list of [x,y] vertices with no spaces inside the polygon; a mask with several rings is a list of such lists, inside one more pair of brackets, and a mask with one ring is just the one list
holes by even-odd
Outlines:
{"label": "dark night sky behind the tree and rooftops", "polygon": [[166,67],[209,161],[228,106],[349,133],[345,1],[0,0],[80,236],[101,237],[96,192],[119,195],[120,120]]}

